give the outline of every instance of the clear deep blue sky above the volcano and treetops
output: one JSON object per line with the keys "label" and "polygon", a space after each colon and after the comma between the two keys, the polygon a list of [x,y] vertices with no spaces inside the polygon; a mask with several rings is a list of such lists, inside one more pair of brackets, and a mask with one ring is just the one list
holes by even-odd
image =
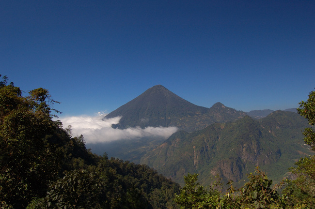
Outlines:
{"label": "clear deep blue sky above the volcano and treetops", "polygon": [[205,107],[297,107],[315,88],[315,1],[1,0],[0,74],[68,116],[158,84]]}

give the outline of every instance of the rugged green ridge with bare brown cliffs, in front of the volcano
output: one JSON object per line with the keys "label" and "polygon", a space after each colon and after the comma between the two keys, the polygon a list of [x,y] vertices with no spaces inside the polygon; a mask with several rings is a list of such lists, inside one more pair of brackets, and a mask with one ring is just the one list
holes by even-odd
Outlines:
{"label": "rugged green ridge with bare brown cliffs, in front of the volcano", "polygon": [[141,159],[142,164],[183,183],[182,176],[199,173],[203,184],[211,175],[239,181],[255,166],[280,180],[287,167],[311,154],[301,140],[306,119],[293,112],[275,111],[266,118],[244,117],[215,123],[203,130],[177,132]]}

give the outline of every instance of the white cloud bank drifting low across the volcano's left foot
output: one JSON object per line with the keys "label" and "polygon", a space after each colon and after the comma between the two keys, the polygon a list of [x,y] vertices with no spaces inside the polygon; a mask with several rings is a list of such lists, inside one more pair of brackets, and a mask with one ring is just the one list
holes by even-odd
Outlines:
{"label": "white cloud bank drifting low across the volcano's left foot", "polygon": [[103,119],[105,115],[98,116],[72,116],[63,117],[63,128],[71,125],[72,135],[83,135],[86,144],[95,144],[99,142],[110,142],[119,139],[134,139],[139,137],[158,136],[165,139],[175,133],[176,127],[140,127],[127,129],[113,129],[111,124],[119,123],[121,117]]}

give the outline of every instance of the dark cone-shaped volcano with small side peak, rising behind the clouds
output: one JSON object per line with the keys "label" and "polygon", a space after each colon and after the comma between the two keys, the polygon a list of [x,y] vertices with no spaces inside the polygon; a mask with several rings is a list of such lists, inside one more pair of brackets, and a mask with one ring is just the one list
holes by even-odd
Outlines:
{"label": "dark cone-shaped volcano with small side peak, rising behind the clouds", "polygon": [[154,86],[140,96],[122,105],[105,118],[122,116],[114,128],[140,126],[169,127],[195,131],[214,122],[225,122],[244,117],[246,113],[236,111],[221,103],[206,108],[192,104],[161,85]]}

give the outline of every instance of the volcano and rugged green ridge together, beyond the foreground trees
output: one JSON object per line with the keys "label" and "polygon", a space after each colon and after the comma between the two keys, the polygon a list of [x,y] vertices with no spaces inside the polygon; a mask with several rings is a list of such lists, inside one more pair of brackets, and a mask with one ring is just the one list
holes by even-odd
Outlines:
{"label": "volcano and rugged green ridge together, beyond the foreground trees", "polygon": [[167,140],[146,137],[94,148],[110,157],[148,164],[181,184],[188,172],[199,173],[203,184],[216,174],[239,181],[257,165],[280,180],[297,159],[311,153],[301,134],[307,121],[294,112],[292,108],[245,113],[221,103],[206,108],[157,85],[105,118],[122,116],[113,128],[175,126],[180,131]]}

